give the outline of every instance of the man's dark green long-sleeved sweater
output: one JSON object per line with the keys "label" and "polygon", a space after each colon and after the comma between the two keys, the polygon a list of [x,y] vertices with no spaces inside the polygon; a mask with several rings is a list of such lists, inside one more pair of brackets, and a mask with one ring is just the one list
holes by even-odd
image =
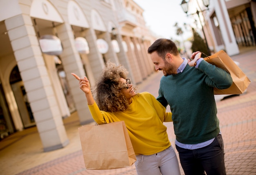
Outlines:
{"label": "man's dark green long-sleeved sweater", "polygon": [[213,88],[227,89],[232,82],[229,73],[204,60],[198,69],[187,64],[182,73],[162,77],[157,100],[171,107],[178,142],[198,144],[218,135]]}

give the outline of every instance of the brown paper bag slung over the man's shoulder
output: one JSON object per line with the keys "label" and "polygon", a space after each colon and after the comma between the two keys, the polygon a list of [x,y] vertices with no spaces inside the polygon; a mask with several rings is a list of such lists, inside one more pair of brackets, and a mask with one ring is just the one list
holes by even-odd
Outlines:
{"label": "brown paper bag slung over the man's shoulder", "polygon": [[204,58],[210,64],[220,67],[225,71],[229,72],[233,84],[228,89],[217,89],[214,88],[214,94],[242,94],[245,92],[251,81],[238,67],[238,65],[227,55],[223,50],[214,53],[213,55]]}

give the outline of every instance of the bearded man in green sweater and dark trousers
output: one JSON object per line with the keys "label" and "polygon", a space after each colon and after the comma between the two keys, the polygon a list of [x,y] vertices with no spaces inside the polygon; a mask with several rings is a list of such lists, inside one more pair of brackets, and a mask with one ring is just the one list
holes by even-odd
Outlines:
{"label": "bearded man in green sweater and dark trousers", "polygon": [[226,175],[224,144],[213,88],[227,89],[232,78],[207,63],[199,51],[181,58],[175,43],[158,39],[149,48],[155,69],[163,71],[157,100],[173,113],[176,148],[186,175]]}

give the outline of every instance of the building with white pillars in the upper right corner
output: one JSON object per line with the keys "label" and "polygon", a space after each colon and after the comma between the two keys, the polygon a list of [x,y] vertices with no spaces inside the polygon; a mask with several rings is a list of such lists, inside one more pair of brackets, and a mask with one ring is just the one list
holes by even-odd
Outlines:
{"label": "building with white pillars in the upper right corner", "polygon": [[200,11],[206,40],[211,52],[225,50],[228,55],[240,53],[239,47],[256,45],[256,0],[209,0],[209,8],[202,0],[194,4],[190,13]]}

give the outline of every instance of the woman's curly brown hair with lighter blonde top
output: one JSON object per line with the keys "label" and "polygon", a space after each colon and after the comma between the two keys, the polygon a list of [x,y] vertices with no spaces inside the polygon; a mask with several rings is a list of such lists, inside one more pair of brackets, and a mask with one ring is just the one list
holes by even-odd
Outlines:
{"label": "woman's curly brown hair with lighter blonde top", "polygon": [[[125,111],[129,107],[126,97],[121,92],[124,83],[120,78],[127,79],[128,71],[122,65],[116,65],[108,61],[102,71],[99,80],[94,87],[94,98],[101,111],[116,112]],[[133,90],[136,92],[136,87]]]}

